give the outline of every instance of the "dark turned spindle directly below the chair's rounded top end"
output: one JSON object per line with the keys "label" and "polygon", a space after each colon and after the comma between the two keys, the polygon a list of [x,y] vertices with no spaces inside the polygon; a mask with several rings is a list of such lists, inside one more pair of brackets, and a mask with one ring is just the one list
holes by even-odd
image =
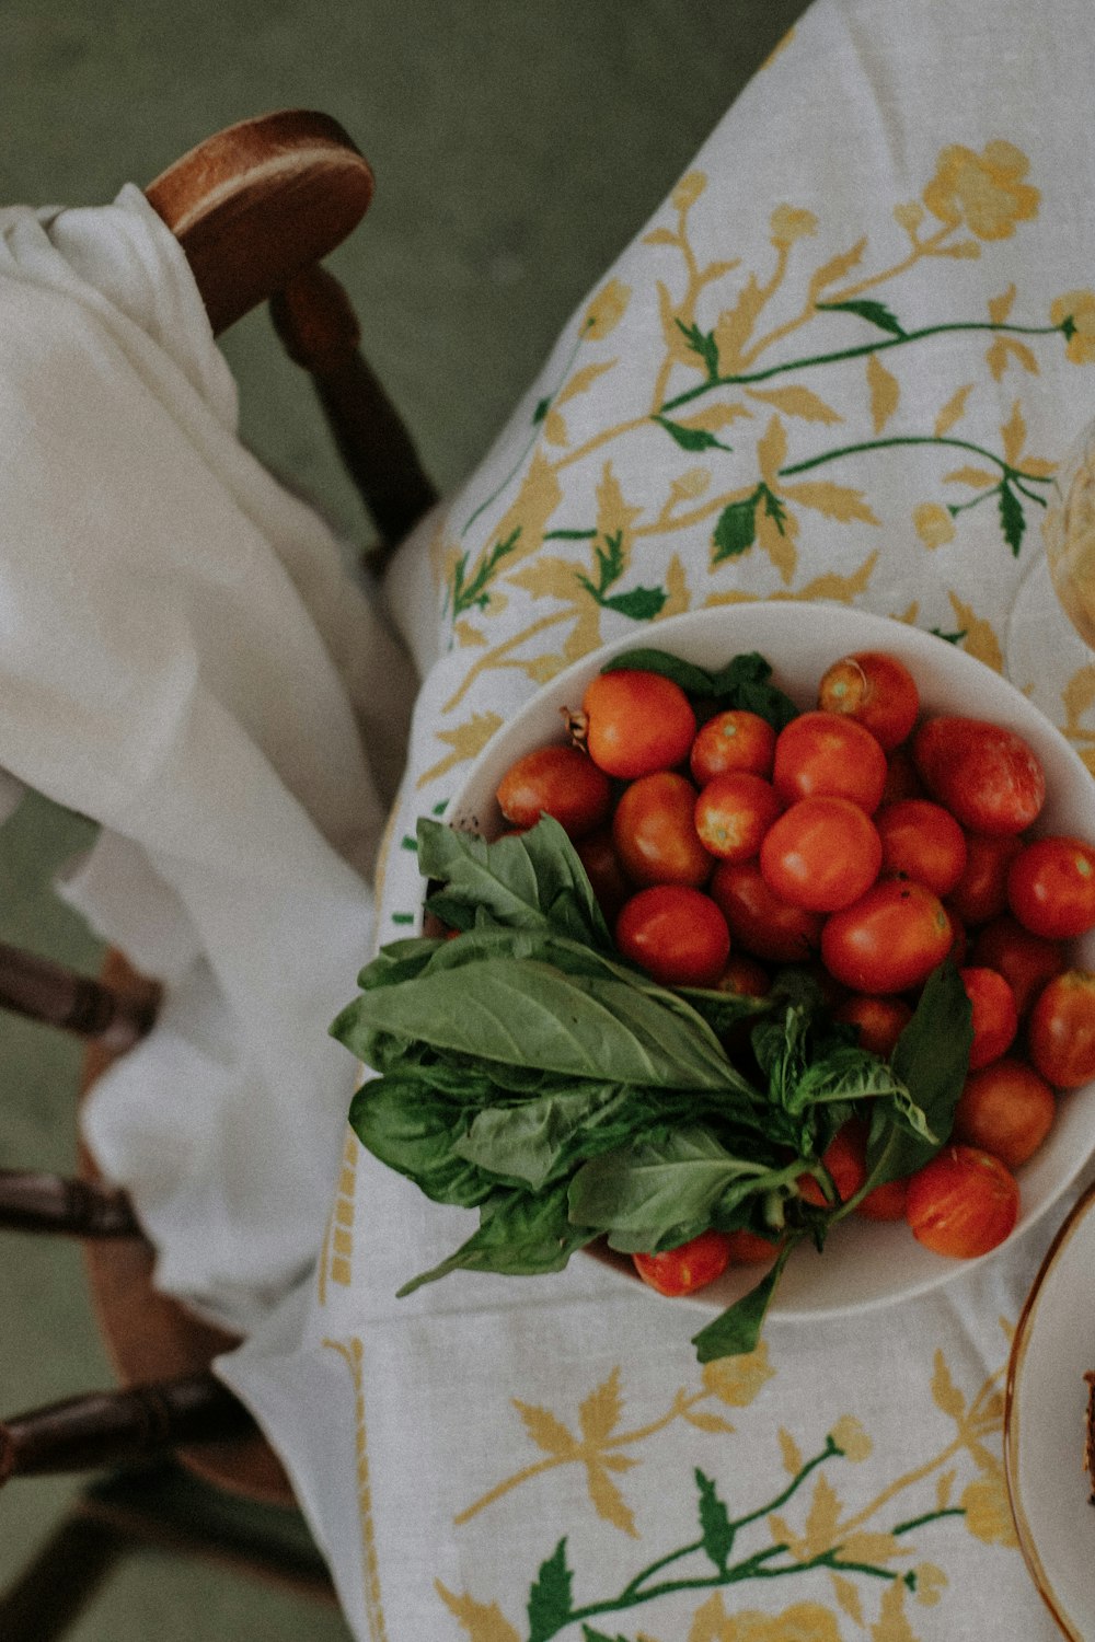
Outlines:
{"label": "dark turned spindle directly below the chair's rounded top end", "polygon": [[437,501],[407,427],[363,360],[350,297],[325,268],[307,268],[271,297],[271,319],[291,360],[310,373],[346,471],[381,535],[368,563],[391,550]]}

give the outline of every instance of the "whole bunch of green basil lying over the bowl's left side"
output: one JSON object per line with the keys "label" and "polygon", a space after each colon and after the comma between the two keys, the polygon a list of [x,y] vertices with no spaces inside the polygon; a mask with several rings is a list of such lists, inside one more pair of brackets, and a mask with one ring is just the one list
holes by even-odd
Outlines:
{"label": "whole bunch of green basil lying over the bowl's left side", "polygon": [[[376,1074],[350,1110],[361,1143],[435,1202],[479,1213],[401,1294],[458,1269],[558,1271],[598,1238],[657,1253],[749,1228],[781,1253],[694,1337],[701,1361],[749,1351],[791,1248],[821,1246],[849,1209],[821,1161],[836,1131],[855,1115],[870,1125],[864,1190],[947,1138],[970,1041],[954,965],[885,1062],[801,970],[765,998],[658,985],[614,949],[547,816],[496,844],[422,819],[419,860],[438,885],[427,908],[460,938],[386,946],[332,1026]],[[803,1174],[824,1209],[803,1199]]]}

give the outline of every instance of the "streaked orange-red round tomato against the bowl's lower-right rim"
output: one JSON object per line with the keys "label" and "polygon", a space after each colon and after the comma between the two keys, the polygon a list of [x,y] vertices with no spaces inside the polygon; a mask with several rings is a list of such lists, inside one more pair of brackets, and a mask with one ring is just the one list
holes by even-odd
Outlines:
{"label": "streaked orange-red round tomato against the bowl's lower-right rim", "polygon": [[1019,1217],[1019,1187],[992,1153],[944,1146],[909,1177],[905,1217],[924,1248],[975,1259],[1010,1236]]}

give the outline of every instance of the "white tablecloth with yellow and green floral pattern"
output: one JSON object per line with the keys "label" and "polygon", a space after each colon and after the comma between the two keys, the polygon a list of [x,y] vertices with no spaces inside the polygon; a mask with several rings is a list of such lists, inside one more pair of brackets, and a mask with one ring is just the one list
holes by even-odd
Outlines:
{"label": "white tablecloth with yellow and green floral pattern", "polygon": [[[688,609],[914,622],[1095,768],[1042,548],[1095,414],[1093,51],[1087,0],[818,0],[765,64],[392,571],[425,681],[381,941],[420,916],[415,819],[491,734]],[[589,1259],[394,1300],[466,1217],[348,1138],[314,1281],[223,1371],[371,1642],[1038,1642],[1003,1373],[1062,1212],[699,1368],[691,1317]]]}

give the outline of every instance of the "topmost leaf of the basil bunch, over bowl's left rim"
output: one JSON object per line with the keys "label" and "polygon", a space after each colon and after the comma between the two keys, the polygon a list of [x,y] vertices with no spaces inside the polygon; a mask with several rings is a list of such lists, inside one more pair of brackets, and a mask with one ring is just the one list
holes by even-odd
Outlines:
{"label": "topmost leaf of the basil bunch, over bowl's left rim", "polygon": [[[428,816],[419,819],[419,865],[445,885],[450,915],[465,905],[473,916],[488,913],[511,928],[558,924],[560,933],[611,951],[612,938],[566,832],[542,816],[519,837],[494,844],[473,832],[456,832]],[[437,903],[427,903],[432,910]]]}

